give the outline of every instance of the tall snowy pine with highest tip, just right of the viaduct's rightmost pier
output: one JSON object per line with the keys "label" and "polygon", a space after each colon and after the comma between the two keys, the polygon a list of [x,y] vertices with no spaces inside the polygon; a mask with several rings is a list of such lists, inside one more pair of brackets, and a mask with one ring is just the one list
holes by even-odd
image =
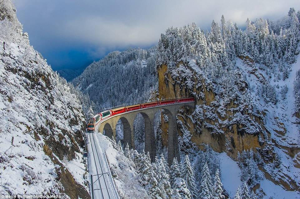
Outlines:
{"label": "tall snowy pine with highest tip, just right of the viaduct's rightmost pier", "polygon": [[188,155],[185,156],[182,166],[182,178],[186,181],[186,187],[190,190],[192,199],[196,199],[197,189],[195,184],[195,175]]}

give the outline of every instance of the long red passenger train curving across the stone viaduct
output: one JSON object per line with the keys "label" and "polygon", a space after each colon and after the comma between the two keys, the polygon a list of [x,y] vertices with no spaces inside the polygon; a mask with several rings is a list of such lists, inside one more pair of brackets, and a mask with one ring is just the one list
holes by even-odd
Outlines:
{"label": "long red passenger train curving across the stone viaduct", "polygon": [[111,109],[107,111],[103,111],[101,113],[96,114],[93,118],[90,118],[87,124],[87,131],[95,131],[95,127],[105,118],[109,118],[110,116],[114,116],[120,113],[125,113],[129,111],[134,111],[138,109],[145,109],[154,106],[162,106],[166,104],[175,104],[175,103],[183,103],[183,102],[193,102],[195,99],[193,97],[181,98],[181,99],[169,99],[169,100],[161,100],[155,102],[148,102],[144,104],[136,104],[132,106],[119,107],[117,109]]}

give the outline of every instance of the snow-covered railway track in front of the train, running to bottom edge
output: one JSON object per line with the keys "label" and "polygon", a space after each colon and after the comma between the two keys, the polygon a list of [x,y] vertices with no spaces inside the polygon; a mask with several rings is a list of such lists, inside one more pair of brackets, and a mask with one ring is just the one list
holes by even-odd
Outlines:
{"label": "snow-covered railway track in front of the train, running to bottom edge", "polygon": [[[108,173],[104,173],[104,169],[102,168],[101,161],[100,161],[100,156],[97,150],[97,146],[94,141],[94,133],[89,133],[90,134],[90,142],[91,142],[91,149],[92,149],[92,154],[93,154],[93,160],[95,163],[95,169],[96,169],[96,174],[93,175],[93,189],[92,191],[92,196],[94,195],[94,198],[103,198],[103,199],[113,199],[115,198],[114,196],[111,196],[112,194],[109,192],[109,188],[106,183],[105,176],[109,176]],[[91,136],[92,134],[92,136]],[[93,139],[92,139],[93,138]],[[97,180],[94,180],[97,179]],[[99,186],[95,186],[95,185]],[[99,191],[100,193],[97,193]]]}

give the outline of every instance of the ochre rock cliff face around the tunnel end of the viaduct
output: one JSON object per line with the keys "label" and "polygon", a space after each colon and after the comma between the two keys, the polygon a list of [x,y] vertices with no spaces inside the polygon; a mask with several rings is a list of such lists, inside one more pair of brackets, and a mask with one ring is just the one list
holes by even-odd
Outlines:
{"label": "ochre rock cliff face around the tunnel end of the viaduct", "polygon": [[[158,79],[159,79],[159,98],[175,98],[175,97],[196,97],[196,111],[190,113],[189,110],[185,110],[177,115],[177,119],[181,121],[186,129],[191,132],[191,141],[198,147],[201,147],[203,143],[210,144],[215,151],[226,151],[228,155],[236,158],[237,152],[242,150],[248,150],[250,148],[256,150],[256,148],[262,148],[264,143],[259,143],[259,137],[264,137],[261,132],[256,134],[244,133],[244,124],[235,122],[230,125],[223,125],[224,121],[232,121],[230,116],[234,115],[237,111],[237,107],[240,104],[235,104],[231,101],[226,106],[220,105],[220,99],[216,98],[215,93],[209,89],[211,85],[206,85],[204,79],[199,79],[196,75],[196,71],[189,67],[189,64],[180,62],[177,64],[177,68],[187,67],[189,68],[189,74],[186,74],[186,78],[181,78],[183,73],[178,73],[177,77],[173,77],[172,72],[168,71],[167,65],[158,67]],[[186,81],[195,82],[192,87],[186,85]],[[201,82],[200,85],[197,82]],[[201,96],[197,98],[197,96]],[[244,114],[248,115],[255,125],[265,130],[261,118],[253,116],[248,113],[248,107],[244,108]],[[225,115],[218,113],[218,109],[225,109]],[[215,114],[215,118],[207,117],[207,114]],[[182,128],[178,126],[178,132],[182,136]],[[213,133],[213,132],[221,133]],[[186,143],[187,144],[187,143]]]}

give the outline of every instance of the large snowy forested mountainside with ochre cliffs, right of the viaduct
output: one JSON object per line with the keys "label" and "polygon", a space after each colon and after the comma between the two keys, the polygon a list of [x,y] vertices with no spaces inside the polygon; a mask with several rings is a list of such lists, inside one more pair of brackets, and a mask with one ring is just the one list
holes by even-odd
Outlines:
{"label": "large snowy forested mountainside with ochre cliffs, right of the viaduct", "polygon": [[196,98],[195,112],[177,113],[181,154],[197,155],[203,144],[225,151],[240,180],[266,198],[265,180],[300,190],[300,12],[284,19],[247,19],[241,30],[222,16],[210,32],[170,27],[157,45],[158,98]]}

